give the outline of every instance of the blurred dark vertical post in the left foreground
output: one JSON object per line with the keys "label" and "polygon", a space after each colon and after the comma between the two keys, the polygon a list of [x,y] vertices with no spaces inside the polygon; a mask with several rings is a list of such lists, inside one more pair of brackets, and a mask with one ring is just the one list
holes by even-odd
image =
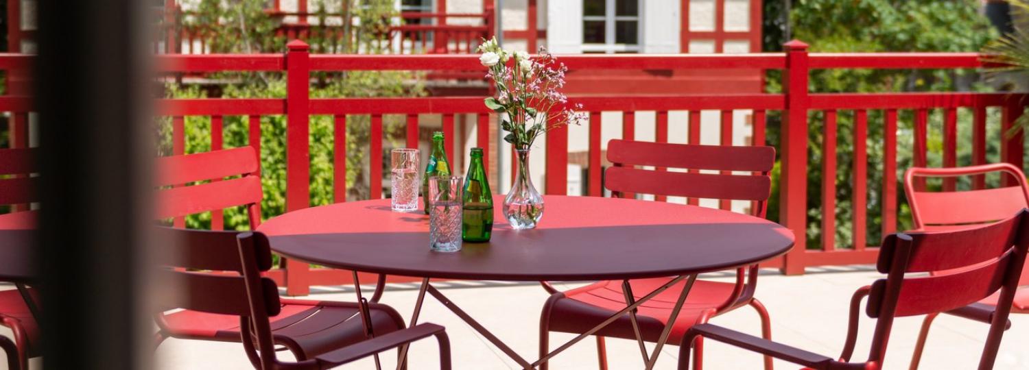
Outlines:
{"label": "blurred dark vertical post in the left foreground", "polygon": [[138,0],[38,2],[46,369],[146,369],[149,40]]}

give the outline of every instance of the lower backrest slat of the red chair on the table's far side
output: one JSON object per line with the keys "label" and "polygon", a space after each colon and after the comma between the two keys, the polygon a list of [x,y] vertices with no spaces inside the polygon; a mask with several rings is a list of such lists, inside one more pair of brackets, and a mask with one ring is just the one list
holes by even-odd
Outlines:
{"label": "lower backrest slat of the red chair on the table's far side", "polygon": [[630,168],[607,169],[605,187],[611,191],[711,199],[767,200],[772,188],[768,176],[732,176],[657,172]]}

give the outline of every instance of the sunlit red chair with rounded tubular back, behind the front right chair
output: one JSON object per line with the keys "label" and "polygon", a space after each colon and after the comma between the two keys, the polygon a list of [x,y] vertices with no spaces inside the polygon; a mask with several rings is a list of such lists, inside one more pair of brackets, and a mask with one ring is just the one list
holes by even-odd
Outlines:
{"label": "sunlit red chair with rounded tubular back, behind the front right chair", "polygon": [[[916,178],[944,178],[953,181],[960,176],[983,176],[990,173],[1000,173],[1001,176],[1013,178],[1017,185],[993,189],[975,189],[968,191],[953,191],[953,187],[945,191],[916,190]],[[964,168],[924,169],[912,168],[904,174],[904,193],[911,205],[911,214],[915,219],[916,230],[950,230],[967,228],[974,225],[996,222],[1006,215],[1029,208],[1029,186],[1026,177],[1017,166],[1009,163],[982,164]],[[1029,313],[1029,269],[1022,271],[1019,289],[1015,293],[1012,312]],[[992,307],[999,297],[994,294],[981,302]],[[922,359],[922,350],[929,335],[929,328],[938,313],[925,317],[922,329],[918,335],[915,353],[911,360],[911,369],[918,369]]]}

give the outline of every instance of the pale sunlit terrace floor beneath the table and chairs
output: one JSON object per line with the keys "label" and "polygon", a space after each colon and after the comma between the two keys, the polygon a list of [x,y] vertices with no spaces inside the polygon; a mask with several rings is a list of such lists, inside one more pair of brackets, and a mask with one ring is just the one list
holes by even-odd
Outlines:
{"label": "pale sunlit terrace floor beneath the table and chairs", "polygon": [[[710,278],[711,275],[709,275]],[[843,346],[847,305],[851,293],[870,284],[880,274],[870,266],[809,269],[804,276],[783,276],[768,271],[760,278],[757,295],[768,306],[774,322],[773,336],[778,341],[836,357]],[[715,274],[714,280],[730,281]],[[546,294],[538,284],[439,283],[435,284],[456,303],[480,320],[514,350],[535,359],[539,308]],[[571,285],[564,285],[571,287]],[[416,284],[391,285],[383,302],[410,318],[418,293]],[[353,300],[353,291],[341,287],[315,288],[312,298]],[[426,297],[421,322],[447,327],[453,346],[455,369],[517,369],[499,350],[431,297]],[[1004,335],[996,369],[1029,369],[1029,314],[1013,316],[1013,327]],[[758,333],[757,316],[741,308],[718,317],[713,323]],[[921,318],[898,319],[887,355],[887,369],[907,369]],[[855,358],[867,354],[872,320],[863,318]],[[922,369],[973,369],[978,363],[987,326],[953,317],[942,317],[933,325]],[[571,335],[552,334],[552,345]],[[713,341],[705,346],[707,369],[759,369],[760,357]],[[610,369],[642,368],[634,341],[608,339]],[[652,345],[649,346],[652,348]],[[285,355],[284,357],[288,357]],[[249,363],[240,344],[170,339],[156,353],[161,369],[248,369]],[[659,369],[675,369],[678,346],[667,346],[658,362]],[[395,364],[394,355],[383,356],[384,365]],[[412,369],[435,369],[438,365],[434,341],[412,347]],[[531,360],[530,360],[531,361]],[[583,340],[552,362],[554,369],[596,369],[595,341]],[[777,363],[779,369],[796,369]],[[370,361],[351,364],[343,369],[375,369]],[[390,367],[392,368],[392,367]]]}

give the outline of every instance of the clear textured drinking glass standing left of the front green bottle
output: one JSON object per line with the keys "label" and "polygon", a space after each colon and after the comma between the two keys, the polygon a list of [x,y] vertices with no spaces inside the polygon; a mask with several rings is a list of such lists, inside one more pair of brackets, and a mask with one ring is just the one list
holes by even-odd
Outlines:
{"label": "clear textured drinking glass standing left of the front green bottle", "polygon": [[429,178],[429,249],[436,252],[461,250],[460,176]]}

